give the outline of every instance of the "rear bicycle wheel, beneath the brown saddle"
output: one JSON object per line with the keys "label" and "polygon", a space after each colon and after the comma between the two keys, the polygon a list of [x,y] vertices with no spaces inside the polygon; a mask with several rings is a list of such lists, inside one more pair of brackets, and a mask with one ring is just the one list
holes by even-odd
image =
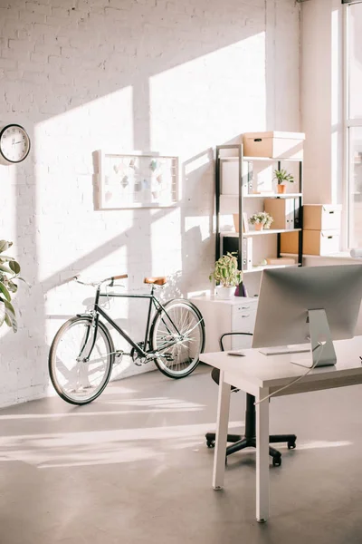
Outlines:
{"label": "rear bicycle wheel, beneath the brown saddle", "polygon": [[182,298],[159,308],[150,331],[151,350],[159,356],[157,368],[170,378],[191,374],[204,351],[204,319],[198,309]]}

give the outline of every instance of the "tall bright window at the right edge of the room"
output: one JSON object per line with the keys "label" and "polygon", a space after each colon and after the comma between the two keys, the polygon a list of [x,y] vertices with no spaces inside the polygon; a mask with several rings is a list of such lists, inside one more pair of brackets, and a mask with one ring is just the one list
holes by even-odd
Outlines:
{"label": "tall bright window at the right edge of the room", "polygon": [[346,10],[348,247],[362,248],[362,3]]}

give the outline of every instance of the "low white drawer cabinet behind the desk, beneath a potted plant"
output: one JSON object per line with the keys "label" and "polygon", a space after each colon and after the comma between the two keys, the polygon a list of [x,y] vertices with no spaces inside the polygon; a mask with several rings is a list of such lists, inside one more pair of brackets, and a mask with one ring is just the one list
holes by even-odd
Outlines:
{"label": "low white drawer cabinet behind the desk, beneath a potted plant", "polygon": [[[220,300],[217,296],[194,296],[191,302],[198,307],[205,320],[205,353],[220,351],[220,337],[224,333],[253,333],[257,298],[233,296]],[[243,349],[252,346],[252,336],[225,338],[224,349]]]}

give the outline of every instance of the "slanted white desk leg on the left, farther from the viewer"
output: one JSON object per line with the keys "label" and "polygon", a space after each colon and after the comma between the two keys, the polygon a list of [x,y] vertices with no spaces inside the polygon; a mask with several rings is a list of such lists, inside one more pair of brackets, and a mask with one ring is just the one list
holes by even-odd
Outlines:
{"label": "slanted white desk leg on the left, farther from the viewer", "polygon": [[224,485],[226,439],[230,410],[230,390],[231,386],[224,383],[224,372],[220,372],[213,472],[213,488],[216,491],[222,490]]}

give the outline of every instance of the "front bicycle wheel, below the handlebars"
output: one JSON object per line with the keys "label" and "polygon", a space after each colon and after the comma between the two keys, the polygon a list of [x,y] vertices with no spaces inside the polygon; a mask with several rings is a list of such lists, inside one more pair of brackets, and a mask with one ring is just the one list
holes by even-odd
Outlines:
{"label": "front bicycle wheel, below the handlebars", "polygon": [[110,380],[114,345],[105,325],[99,322],[88,361],[94,329],[90,316],[69,319],[54,336],[49,354],[49,374],[55,391],[71,404],[94,401]]}

